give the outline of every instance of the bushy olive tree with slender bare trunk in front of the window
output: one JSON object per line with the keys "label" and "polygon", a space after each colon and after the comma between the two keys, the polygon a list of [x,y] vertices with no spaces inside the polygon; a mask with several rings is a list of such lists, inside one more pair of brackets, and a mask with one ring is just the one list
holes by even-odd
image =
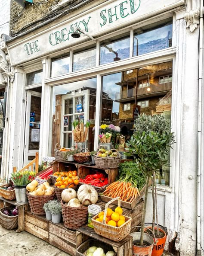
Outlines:
{"label": "bushy olive tree with slender bare trunk in front of the window", "polygon": [[[133,136],[128,142],[128,154],[133,155],[138,168],[146,178],[145,203],[142,214],[141,233],[139,243],[137,243],[138,250],[142,250],[142,248],[148,247],[143,246],[149,180],[154,176],[157,169],[160,169],[161,166],[167,164],[166,155],[168,154],[169,148],[172,148],[173,146],[174,134],[170,131],[170,120],[162,115],[139,115],[136,119],[134,128]],[[153,179],[153,186],[154,181],[155,179]],[[152,189],[152,191],[153,190],[154,189]],[[155,211],[153,211],[153,213],[154,212]],[[153,233],[155,233],[154,223],[155,214],[153,214],[153,227],[151,229]],[[151,255],[152,247],[153,245],[149,248],[148,255]],[[143,255],[141,252],[138,254]]]}

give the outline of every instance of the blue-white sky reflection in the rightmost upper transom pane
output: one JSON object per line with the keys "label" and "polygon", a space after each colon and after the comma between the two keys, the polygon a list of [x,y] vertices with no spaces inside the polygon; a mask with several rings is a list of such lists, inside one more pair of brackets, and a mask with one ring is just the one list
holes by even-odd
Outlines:
{"label": "blue-white sky reflection in the rightmost upper transom pane", "polygon": [[[167,37],[168,32],[170,32],[169,38],[172,38],[172,24],[142,33],[140,35],[135,35],[135,37],[138,39],[138,44],[140,45],[153,40],[165,38]],[[134,45],[136,45],[136,43],[137,41],[134,39]]]}

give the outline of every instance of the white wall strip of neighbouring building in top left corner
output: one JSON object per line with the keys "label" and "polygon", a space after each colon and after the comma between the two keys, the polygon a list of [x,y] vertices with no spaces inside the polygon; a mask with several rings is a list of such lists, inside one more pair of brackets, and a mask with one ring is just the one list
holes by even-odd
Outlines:
{"label": "white wall strip of neighbouring building in top left corner", "polygon": [[0,0],[0,35],[9,35],[10,0]]}

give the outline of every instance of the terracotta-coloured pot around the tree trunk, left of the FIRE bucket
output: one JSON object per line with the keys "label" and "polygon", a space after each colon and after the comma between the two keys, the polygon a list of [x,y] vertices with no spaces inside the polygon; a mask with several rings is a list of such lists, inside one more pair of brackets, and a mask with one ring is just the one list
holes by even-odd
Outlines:
{"label": "terracotta-coloured pot around the tree trunk, left of the FIRE bucket", "polygon": [[[141,233],[134,232],[134,233],[131,233],[130,236],[133,237],[133,243],[139,242]],[[144,234],[144,242],[147,242],[150,245],[146,247],[142,247],[142,246],[136,246],[133,244],[133,256],[151,256],[151,252],[152,252],[155,241],[150,235]]]}

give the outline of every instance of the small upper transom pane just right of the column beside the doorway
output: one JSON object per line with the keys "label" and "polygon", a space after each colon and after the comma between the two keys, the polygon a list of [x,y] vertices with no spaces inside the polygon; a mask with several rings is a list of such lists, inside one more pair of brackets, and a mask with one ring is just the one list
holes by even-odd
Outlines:
{"label": "small upper transom pane just right of the column beside the doorway", "polygon": [[51,77],[69,73],[69,55],[53,58],[51,62]]}

